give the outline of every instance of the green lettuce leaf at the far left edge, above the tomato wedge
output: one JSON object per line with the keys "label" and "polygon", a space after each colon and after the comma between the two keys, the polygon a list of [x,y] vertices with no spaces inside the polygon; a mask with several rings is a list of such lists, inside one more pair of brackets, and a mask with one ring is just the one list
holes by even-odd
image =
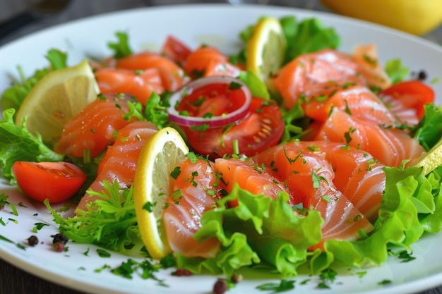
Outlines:
{"label": "green lettuce leaf at the far left edge, above the tomato wedge", "polygon": [[3,118],[0,119],[0,169],[2,176],[10,181],[11,185],[16,183],[12,166],[16,161],[61,161],[64,155],[58,154],[49,149],[40,135],[32,135],[26,128],[25,118],[16,125],[13,121],[15,109],[3,111]]}

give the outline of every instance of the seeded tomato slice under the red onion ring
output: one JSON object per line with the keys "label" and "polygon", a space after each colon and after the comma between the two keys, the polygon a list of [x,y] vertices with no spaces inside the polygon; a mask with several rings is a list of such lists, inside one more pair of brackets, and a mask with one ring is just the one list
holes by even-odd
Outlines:
{"label": "seeded tomato slice under the red onion ring", "polygon": [[233,154],[237,142],[239,154],[251,157],[277,145],[284,133],[284,121],[279,106],[253,97],[241,120],[220,128],[183,128],[189,145],[211,159]]}

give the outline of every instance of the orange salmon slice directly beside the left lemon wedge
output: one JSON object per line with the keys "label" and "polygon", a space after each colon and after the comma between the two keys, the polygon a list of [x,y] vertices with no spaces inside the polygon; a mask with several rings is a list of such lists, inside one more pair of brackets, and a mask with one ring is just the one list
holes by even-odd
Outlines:
{"label": "orange salmon slice directly beside the left lemon wedge", "polygon": [[55,152],[78,158],[90,152],[90,157],[96,157],[115,142],[115,131],[136,119],[128,121],[123,117],[129,112],[128,103],[132,102],[124,94],[100,95],[66,123]]}

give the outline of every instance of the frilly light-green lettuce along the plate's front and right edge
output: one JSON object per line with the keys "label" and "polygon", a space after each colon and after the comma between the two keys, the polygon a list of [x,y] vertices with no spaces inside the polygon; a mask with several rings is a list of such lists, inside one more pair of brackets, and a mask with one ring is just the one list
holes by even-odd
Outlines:
{"label": "frilly light-green lettuce along the plate's front and right edge", "polygon": [[[203,214],[196,240],[218,238],[222,250],[213,259],[177,255],[177,266],[195,273],[232,275],[241,267],[266,267],[281,276],[296,276],[302,264],[313,274],[336,262],[351,267],[386,262],[391,247],[411,250],[424,233],[442,230],[442,168],[425,176],[422,169],[388,167],[386,190],[375,230],[356,241],[327,240],[325,251],[309,252],[321,240],[323,219],[317,211],[294,213],[287,195],[276,200],[252,195],[238,186],[220,201],[220,207]],[[238,206],[225,204],[238,200]]]}

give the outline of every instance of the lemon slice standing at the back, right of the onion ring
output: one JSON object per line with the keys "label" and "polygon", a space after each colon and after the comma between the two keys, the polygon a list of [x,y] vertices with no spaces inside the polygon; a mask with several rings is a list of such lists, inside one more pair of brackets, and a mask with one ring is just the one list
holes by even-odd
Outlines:
{"label": "lemon slice standing at the back, right of the onion ring", "polygon": [[247,42],[246,68],[258,75],[267,86],[270,77],[284,62],[287,47],[282,26],[277,18],[261,18]]}

